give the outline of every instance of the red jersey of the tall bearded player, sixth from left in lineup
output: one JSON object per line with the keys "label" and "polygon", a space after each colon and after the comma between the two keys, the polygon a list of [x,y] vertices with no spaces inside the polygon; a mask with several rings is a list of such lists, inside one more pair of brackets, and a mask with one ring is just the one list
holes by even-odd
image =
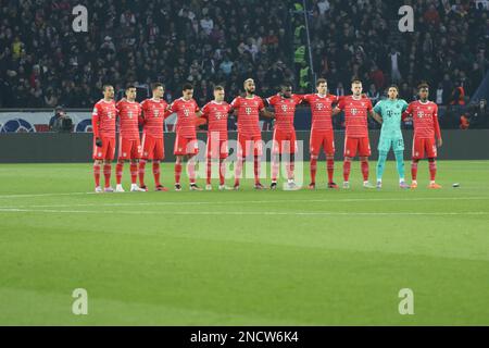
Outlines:
{"label": "red jersey of the tall bearded player, sixth from left in lineup", "polygon": [[237,97],[230,103],[238,111],[238,133],[244,136],[260,136],[260,111],[265,109],[262,98]]}

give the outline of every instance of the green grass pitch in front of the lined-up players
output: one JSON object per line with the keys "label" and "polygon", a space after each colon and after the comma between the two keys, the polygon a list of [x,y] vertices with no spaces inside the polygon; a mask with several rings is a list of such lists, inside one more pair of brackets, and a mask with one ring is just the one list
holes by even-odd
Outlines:
{"label": "green grass pitch in front of the lined-up players", "polygon": [[437,191],[426,162],[415,191],[352,170],[349,191],[95,195],[88,163],[0,165],[0,324],[488,325],[489,162],[440,161]]}

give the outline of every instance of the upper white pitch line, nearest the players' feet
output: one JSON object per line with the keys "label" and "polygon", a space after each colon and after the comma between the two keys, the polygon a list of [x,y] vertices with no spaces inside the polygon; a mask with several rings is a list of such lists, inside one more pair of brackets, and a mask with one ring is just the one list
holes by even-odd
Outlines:
{"label": "upper white pitch line, nearest the players' feet", "polygon": [[60,207],[145,207],[145,206],[226,206],[226,204],[289,204],[289,203],[348,203],[348,202],[402,202],[402,201],[447,201],[447,200],[489,200],[489,197],[428,197],[428,198],[340,198],[340,199],[281,199],[281,200],[229,200],[229,201],[164,201],[164,202],[128,202],[128,203],[101,203],[83,204],[43,204],[43,206],[16,206],[0,207],[0,209],[24,208],[60,208]]}

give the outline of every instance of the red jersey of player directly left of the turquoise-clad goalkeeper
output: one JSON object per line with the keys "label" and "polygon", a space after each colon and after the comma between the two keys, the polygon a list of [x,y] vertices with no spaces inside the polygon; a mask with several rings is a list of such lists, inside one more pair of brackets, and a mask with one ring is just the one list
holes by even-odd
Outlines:
{"label": "red jersey of player directly left of the turquoise-clad goalkeeper", "polygon": [[368,137],[368,112],[373,109],[368,98],[354,99],[353,96],[348,96],[339,101],[338,108],[344,111],[348,137]]}

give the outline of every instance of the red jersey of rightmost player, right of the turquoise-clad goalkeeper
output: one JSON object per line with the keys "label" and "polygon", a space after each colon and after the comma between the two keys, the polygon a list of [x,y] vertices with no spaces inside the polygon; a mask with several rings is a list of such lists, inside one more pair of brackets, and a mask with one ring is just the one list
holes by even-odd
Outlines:
{"label": "red jersey of rightmost player, right of the turquoise-clad goalkeeper", "polygon": [[441,137],[438,123],[438,105],[432,101],[426,103],[413,101],[405,111],[413,115],[414,137],[418,139],[432,139]]}

